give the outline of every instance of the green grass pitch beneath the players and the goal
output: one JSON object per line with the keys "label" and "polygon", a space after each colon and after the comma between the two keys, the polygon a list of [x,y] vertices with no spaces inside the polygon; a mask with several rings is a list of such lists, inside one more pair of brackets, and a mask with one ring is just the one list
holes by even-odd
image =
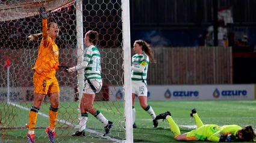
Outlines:
{"label": "green grass pitch beneath the players and the goal", "polygon": [[[32,103],[16,103],[13,106],[2,102],[0,104],[1,125],[0,127],[25,127],[28,123],[28,113]],[[222,101],[155,101],[148,102],[155,111],[155,114],[161,114],[170,111],[172,118],[180,127],[181,133],[189,132],[196,128],[195,120],[190,117],[192,108],[196,108],[199,117],[204,124],[237,124],[241,127],[252,125],[256,129],[255,113],[256,100],[222,100]],[[45,128],[49,126],[48,115],[49,103],[43,103],[38,115],[36,124],[36,142],[49,142],[45,133]],[[20,106],[24,108],[20,108]],[[123,103],[122,102],[96,102],[95,108],[98,108],[108,120],[114,122],[108,138],[102,137],[104,126],[95,117],[89,115],[87,122],[86,137],[72,137],[77,129],[63,121],[76,125],[78,123],[78,110],[75,102],[61,102],[58,114],[56,129],[57,135],[55,142],[119,142],[125,139],[125,132],[122,127],[123,121]],[[134,129],[134,142],[177,142],[170,132],[167,121],[159,120],[157,128],[153,128],[151,116],[144,111],[139,102],[134,105],[136,109],[136,125]],[[27,142],[25,135],[28,129],[1,129],[0,142]]]}

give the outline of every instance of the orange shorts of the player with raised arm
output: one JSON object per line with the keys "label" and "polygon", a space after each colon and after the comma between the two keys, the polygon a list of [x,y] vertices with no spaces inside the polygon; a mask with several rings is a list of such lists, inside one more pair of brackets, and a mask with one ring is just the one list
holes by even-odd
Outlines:
{"label": "orange shorts of the player with raised arm", "polygon": [[49,79],[46,76],[41,76],[37,72],[34,73],[34,87],[35,93],[49,94],[56,93],[60,91],[58,86],[57,78]]}

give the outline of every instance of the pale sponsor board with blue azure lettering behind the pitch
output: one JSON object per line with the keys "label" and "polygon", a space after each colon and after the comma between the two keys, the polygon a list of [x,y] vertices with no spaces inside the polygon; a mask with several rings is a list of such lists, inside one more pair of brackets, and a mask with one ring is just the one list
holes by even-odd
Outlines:
{"label": "pale sponsor board with blue azure lettering behind the pitch", "polygon": [[[119,91],[120,90],[120,91]],[[122,87],[111,87],[112,100],[123,100]],[[120,94],[121,93],[121,94]],[[246,85],[149,85],[148,100],[240,100],[255,99],[255,87]],[[138,98],[136,98],[138,100]]]}

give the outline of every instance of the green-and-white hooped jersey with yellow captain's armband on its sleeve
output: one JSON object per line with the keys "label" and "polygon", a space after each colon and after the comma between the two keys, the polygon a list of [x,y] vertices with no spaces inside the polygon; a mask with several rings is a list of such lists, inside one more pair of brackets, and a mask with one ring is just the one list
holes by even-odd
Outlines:
{"label": "green-and-white hooped jersey with yellow captain's armband on its sleeve", "polygon": [[149,64],[149,56],[146,53],[142,53],[140,55],[136,54],[133,56],[132,65],[133,67],[140,68],[140,65],[144,66],[144,70],[142,73],[131,71],[131,81],[142,81],[146,83],[146,74],[148,72],[148,64]]}

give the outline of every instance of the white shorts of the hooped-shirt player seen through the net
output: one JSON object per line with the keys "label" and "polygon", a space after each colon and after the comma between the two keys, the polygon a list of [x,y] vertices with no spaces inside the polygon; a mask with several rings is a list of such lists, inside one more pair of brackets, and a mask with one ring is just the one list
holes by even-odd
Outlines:
{"label": "white shorts of the hooped-shirt player seen through the net", "polygon": [[92,88],[90,87],[88,81],[86,80],[86,83],[84,84],[84,91],[83,93],[86,94],[95,94],[95,93],[99,93],[99,91],[101,91],[102,88],[102,80],[101,79],[89,79],[90,82],[92,82],[93,87],[95,87],[96,92],[94,92],[92,90]]}

